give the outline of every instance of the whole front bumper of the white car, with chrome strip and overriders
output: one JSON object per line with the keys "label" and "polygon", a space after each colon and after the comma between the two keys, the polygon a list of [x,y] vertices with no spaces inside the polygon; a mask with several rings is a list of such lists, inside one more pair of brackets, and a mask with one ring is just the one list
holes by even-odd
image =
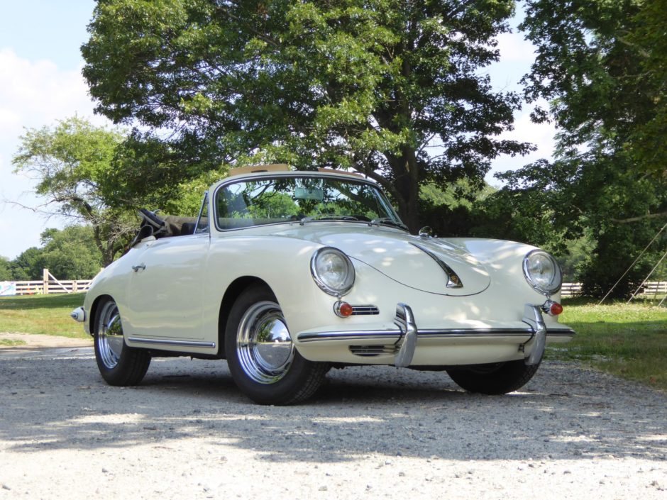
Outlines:
{"label": "whole front bumper of the white car, with chrome strip and overriders", "polygon": [[396,306],[396,328],[312,331],[297,335],[299,352],[309,360],[363,364],[473,365],[524,358],[536,365],[547,340],[568,341],[574,331],[548,328],[541,306],[527,304],[519,325],[507,328],[419,329],[407,304]]}

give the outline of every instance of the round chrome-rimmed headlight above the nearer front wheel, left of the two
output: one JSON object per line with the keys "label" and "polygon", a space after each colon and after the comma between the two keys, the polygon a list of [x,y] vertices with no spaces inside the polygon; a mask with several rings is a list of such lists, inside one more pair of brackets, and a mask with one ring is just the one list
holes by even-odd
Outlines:
{"label": "round chrome-rimmed headlight above the nearer front wheel, left of the two", "polygon": [[324,247],[310,260],[310,271],[318,287],[327,294],[343,296],[354,284],[354,266],[341,250]]}

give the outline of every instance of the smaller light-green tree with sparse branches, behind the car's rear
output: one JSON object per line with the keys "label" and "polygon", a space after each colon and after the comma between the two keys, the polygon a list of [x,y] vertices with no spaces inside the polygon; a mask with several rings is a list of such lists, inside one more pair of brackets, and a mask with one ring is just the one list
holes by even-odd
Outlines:
{"label": "smaller light-green tree with sparse branches, behind the car's rear", "polygon": [[54,127],[27,130],[13,157],[16,172],[38,180],[36,191],[45,196],[51,213],[92,226],[104,265],[114,260],[136,226],[128,213],[130,202],[119,199],[117,184],[123,173],[112,161],[124,136],[68,118]]}

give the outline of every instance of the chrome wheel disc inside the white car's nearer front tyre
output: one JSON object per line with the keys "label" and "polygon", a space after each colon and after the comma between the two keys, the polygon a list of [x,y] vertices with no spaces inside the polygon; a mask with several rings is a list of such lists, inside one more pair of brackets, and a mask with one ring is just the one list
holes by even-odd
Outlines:
{"label": "chrome wheel disc inside the white car's nearer front tyre", "polygon": [[280,306],[263,301],[250,306],[238,326],[236,352],[243,372],[260,384],[285,377],[294,360],[294,344]]}

